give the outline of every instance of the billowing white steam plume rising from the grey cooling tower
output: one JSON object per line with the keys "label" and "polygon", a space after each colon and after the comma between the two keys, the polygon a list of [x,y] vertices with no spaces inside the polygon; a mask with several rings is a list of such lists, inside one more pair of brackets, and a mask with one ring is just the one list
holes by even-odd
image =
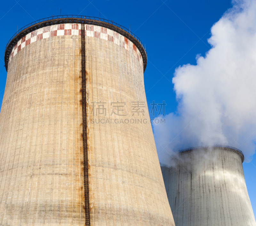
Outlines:
{"label": "billowing white steam plume rising from the grey cooling tower", "polygon": [[154,124],[161,164],[179,149],[200,145],[236,147],[247,162],[255,152],[256,1],[234,1],[211,33],[205,57],[175,70],[177,112]]}

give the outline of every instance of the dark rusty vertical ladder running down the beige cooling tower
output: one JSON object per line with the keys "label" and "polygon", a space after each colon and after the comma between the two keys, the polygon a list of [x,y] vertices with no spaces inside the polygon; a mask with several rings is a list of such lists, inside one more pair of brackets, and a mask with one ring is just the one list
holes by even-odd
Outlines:
{"label": "dark rusty vertical ladder running down the beige cooling tower", "polygon": [[82,109],[83,109],[83,148],[84,148],[84,201],[85,225],[90,226],[89,176],[87,150],[87,114],[86,114],[86,70],[85,70],[85,29],[81,24],[81,54],[82,54]]}

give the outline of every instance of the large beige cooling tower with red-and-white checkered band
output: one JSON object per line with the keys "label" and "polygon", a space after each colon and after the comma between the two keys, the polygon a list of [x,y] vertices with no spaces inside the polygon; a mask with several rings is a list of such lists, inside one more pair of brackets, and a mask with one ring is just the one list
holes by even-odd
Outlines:
{"label": "large beige cooling tower with red-and-white checkered band", "polygon": [[135,35],[99,18],[46,18],[4,60],[0,225],[174,225]]}

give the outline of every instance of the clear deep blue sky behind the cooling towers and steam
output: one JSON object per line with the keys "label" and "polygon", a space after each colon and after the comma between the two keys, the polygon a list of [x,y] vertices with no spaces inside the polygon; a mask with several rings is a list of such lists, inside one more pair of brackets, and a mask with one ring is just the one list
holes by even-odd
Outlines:
{"label": "clear deep blue sky behind the cooling towers and steam", "polygon": [[[172,77],[175,68],[196,64],[196,55],[202,56],[211,48],[207,39],[210,29],[228,8],[229,0],[170,1],[170,0],[9,0],[0,8],[0,70],[4,66],[4,50],[12,35],[21,27],[52,15],[86,15],[106,18],[129,28],[146,46],[148,65],[144,73],[145,90],[150,103],[165,101],[165,113],[176,112],[177,101]],[[100,12],[100,13],[99,13]],[[0,74],[0,104],[4,95],[6,70]],[[242,150],[243,151],[243,150]],[[244,176],[252,208],[256,213],[254,180],[256,160],[244,163]]]}

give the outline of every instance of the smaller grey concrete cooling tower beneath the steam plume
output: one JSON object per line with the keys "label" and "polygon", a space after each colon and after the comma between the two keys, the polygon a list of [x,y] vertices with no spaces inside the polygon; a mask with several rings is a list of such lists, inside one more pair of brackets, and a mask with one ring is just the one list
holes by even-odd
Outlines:
{"label": "smaller grey concrete cooling tower beneath the steam plume", "polygon": [[243,153],[229,146],[181,150],[161,166],[176,226],[256,226]]}

